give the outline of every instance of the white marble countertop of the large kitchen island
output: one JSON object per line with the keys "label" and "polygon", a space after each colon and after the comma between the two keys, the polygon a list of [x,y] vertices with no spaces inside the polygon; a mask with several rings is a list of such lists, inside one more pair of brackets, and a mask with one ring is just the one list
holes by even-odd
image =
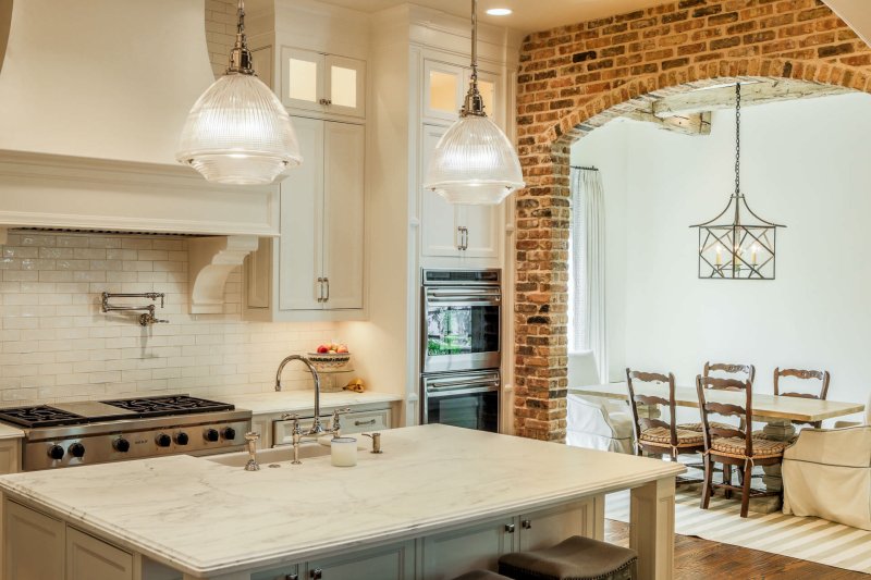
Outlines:
{"label": "white marble countertop of the large kitchen island", "polygon": [[683,467],[430,424],[382,432],[353,468],[329,455],[249,472],[172,456],[0,477],[0,490],[194,577],[303,562],[625,490]]}

